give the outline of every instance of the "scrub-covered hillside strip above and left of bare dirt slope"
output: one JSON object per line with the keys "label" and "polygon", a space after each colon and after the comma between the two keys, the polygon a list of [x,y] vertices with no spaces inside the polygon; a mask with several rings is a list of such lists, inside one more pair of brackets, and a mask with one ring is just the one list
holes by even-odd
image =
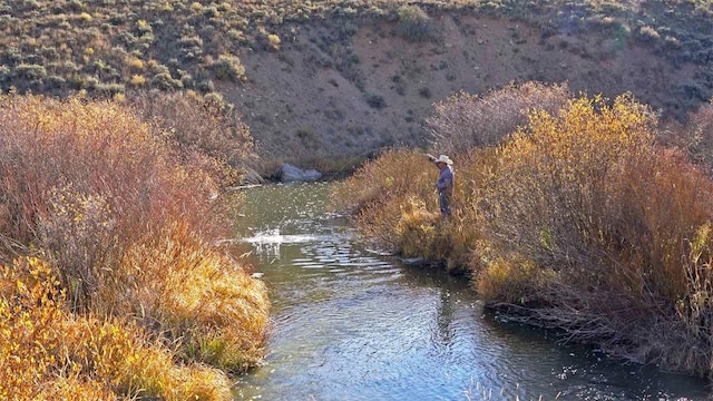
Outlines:
{"label": "scrub-covered hillside strip above and left of bare dirt slope", "polygon": [[[408,4],[408,6],[407,6]],[[0,85],[20,92],[85,89],[114,96],[146,87],[212,91],[215,80],[250,77],[246,49],[277,51],[292,22],[390,19],[409,40],[436,38],[428,12],[469,9],[555,33],[604,31],[613,46],[636,39],[674,62],[713,58],[710,1],[545,2],[321,1],[0,1]],[[713,71],[703,70],[711,82]],[[710,94],[691,87],[692,96]]]}

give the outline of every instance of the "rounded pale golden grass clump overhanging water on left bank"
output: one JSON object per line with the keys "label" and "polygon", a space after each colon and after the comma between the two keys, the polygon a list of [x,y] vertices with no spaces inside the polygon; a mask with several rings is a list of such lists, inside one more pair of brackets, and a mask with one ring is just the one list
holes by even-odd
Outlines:
{"label": "rounded pale golden grass clump overhanging water on left bank", "polygon": [[[228,371],[263,355],[270,302],[264,284],[185,226],[133,246],[123,261],[130,287],[117,307],[180,341],[180,352]],[[157,324],[157,323],[154,323]]]}

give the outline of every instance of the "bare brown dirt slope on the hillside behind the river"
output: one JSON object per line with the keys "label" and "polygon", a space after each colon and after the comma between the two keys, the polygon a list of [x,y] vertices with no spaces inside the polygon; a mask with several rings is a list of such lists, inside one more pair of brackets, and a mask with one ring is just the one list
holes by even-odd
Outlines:
{"label": "bare brown dirt slope on the hillside behind the river", "polygon": [[682,88],[696,70],[603,31],[543,32],[472,13],[431,21],[422,41],[404,39],[390,21],[293,26],[280,50],[241,53],[248,81],[221,90],[244,114],[264,157],[305,160],[427,145],[422,120],[434,101],[510,81],[567,81],[574,92],[607,97],[631,91],[681,115],[688,96]]}

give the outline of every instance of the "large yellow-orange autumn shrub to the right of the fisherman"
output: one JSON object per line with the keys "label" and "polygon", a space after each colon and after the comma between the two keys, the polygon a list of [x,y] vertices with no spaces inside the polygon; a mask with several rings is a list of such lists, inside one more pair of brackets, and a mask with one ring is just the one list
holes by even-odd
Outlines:
{"label": "large yellow-orange autumn shrub to the right of the fisherman", "polygon": [[711,353],[692,350],[711,341],[713,183],[655,144],[655,123],[628,97],[533,114],[481,190],[490,255],[506,258],[478,288],[572,339],[709,375]]}

